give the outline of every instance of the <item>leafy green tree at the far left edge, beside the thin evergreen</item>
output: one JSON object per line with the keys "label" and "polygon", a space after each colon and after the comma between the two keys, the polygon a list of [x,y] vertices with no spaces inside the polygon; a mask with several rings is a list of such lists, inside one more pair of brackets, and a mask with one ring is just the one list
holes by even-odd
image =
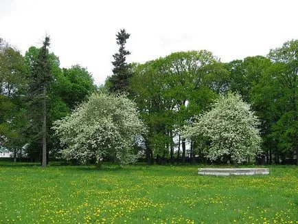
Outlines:
{"label": "leafy green tree at the far left edge, beside the thin evergreen", "polygon": [[0,39],[0,146],[10,151],[19,150],[24,144],[23,129],[25,94],[24,58],[17,49]]}

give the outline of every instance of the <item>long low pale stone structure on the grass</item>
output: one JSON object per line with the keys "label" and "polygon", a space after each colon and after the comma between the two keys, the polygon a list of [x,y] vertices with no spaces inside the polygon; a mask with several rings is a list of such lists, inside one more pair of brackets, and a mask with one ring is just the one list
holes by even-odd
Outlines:
{"label": "long low pale stone structure on the grass", "polygon": [[198,175],[268,175],[268,168],[198,168]]}

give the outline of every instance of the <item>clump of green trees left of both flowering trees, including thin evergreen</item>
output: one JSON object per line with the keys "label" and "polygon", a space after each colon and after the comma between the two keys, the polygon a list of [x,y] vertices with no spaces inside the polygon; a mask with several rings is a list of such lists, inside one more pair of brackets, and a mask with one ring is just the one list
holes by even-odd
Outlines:
{"label": "clump of green trees left of both flowering trees, including thin evergreen", "polygon": [[60,150],[53,122],[65,117],[98,89],[86,68],[60,68],[58,56],[43,46],[25,56],[0,38],[0,147],[16,158],[41,161]]}

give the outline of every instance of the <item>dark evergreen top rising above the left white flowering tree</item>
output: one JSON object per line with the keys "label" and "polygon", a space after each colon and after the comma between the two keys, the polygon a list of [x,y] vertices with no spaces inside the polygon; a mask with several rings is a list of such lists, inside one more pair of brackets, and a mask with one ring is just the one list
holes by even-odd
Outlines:
{"label": "dark evergreen top rising above the left white flowering tree", "polygon": [[132,74],[130,72],[130,65],[126,63],[126,56],[129,55],[130,52],[125,49],[125,44],[130,34],[126,33],[125,30],[120,30],[116,36],[119,52],[113,55],[113,75],[109,78],[110,83],[108,89],[111,92],[129,92]]}

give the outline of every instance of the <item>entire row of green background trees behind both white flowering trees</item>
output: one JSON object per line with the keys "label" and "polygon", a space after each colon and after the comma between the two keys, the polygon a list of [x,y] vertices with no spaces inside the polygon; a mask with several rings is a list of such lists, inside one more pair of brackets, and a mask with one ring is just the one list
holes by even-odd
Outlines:
{"label": "entire row of green background trees behind both white flowering trees", "polygon": [[[207,162],[204,146],[198,139],[185,137],[183,129],[194,123],[194,115],[209,111],[219,96],[236,92],[251,104],[259,119],[263,160],[294,163],[298,154],[298,40],[271,49],[267,56],[229,63],[200,50],[174,52],[139,64],[126,62],[129,36],[125,30],[116,35],[119,52],[113,55],[113,75],[103,87],[96,87],[91,74],[80,65],[61,69],[46,40],[41,48],[30,47],[25,56],[1,40],[1,146],[12,150],[14,157],[39,160],[45,128],[47,157],[59,157],[63,146],[54,135],[54,121],[100,91],[124,93],[135,102],[146,125],[135,153],[144,153],[148,164],[154,160],[157,164],[166,160],[185,164],[186,155],[192,163],[196,159]],[[46,125],[43,114],[47,115]]]}

